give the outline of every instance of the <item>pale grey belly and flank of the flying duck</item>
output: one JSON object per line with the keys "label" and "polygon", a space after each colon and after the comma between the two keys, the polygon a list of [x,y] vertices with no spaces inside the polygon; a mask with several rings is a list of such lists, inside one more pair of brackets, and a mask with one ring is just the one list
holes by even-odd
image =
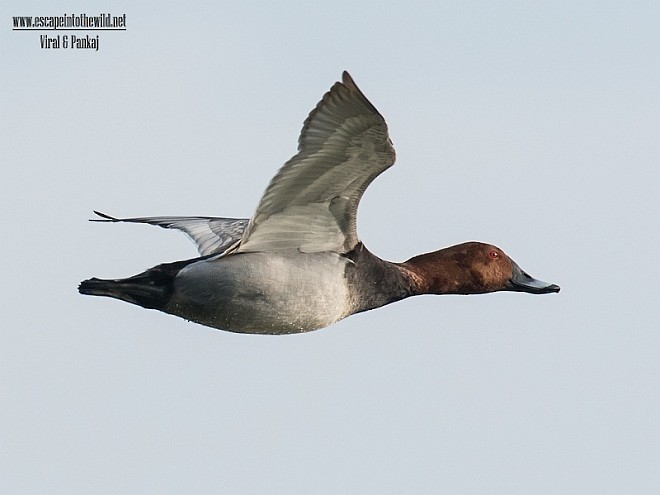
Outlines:
{"label": "pale grey belly and flank of the flying duck", "polygon": [[177,274],[167,311],[214,328],[285,334],[352,313],[347,260],[332,253],[244,253],[199,261]]}

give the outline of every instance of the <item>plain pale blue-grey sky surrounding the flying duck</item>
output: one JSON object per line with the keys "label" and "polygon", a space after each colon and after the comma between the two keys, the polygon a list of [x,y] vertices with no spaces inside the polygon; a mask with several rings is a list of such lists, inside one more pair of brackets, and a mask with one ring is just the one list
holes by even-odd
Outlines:
{"label": "plain pale blue-grey sky surrounding the flying duck", "polygon": [[[660,493],[660,3],[0,7],[3,494]],[[126,13],[100,50],[13,15]],[[495,243],[557,295],[235,335],[88,277],[193,257],[87,221],[248,217],[347,69],[397,165],[359,233]]]}

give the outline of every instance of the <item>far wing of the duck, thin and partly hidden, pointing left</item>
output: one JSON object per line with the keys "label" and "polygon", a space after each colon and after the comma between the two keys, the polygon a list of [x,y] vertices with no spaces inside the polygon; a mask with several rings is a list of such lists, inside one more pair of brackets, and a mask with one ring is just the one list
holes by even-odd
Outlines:
{"label": "far wing of the duck, thin and partly hidden, pointing left", "polygon": [[131,222],[158,225],[164,229],[177,229],[190,237],[202,256],[221,254],[234,246],[243,236],[248,224],[246,218],[219,217],[139,217],[115,218],[95,211],[101,218],[93,222]]}

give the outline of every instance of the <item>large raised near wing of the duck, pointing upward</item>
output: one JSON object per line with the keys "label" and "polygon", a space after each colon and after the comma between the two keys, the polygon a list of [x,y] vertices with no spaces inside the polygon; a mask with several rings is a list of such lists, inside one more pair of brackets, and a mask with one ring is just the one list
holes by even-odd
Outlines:
{"label": "large raised near wing of the duck, pointing upward", "polygon": [[360,198],[394,159],[385,120],[344,72],[309,114],[298,154],[271,180],[238,252],[350,251]]}

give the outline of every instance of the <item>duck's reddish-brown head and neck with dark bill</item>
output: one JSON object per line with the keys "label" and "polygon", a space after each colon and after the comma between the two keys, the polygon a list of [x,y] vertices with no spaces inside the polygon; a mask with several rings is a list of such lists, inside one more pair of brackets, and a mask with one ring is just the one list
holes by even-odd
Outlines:
{"label": "duck's reddish-brown head and neck with dark bill", "polygon": [[559,292],[558,285],[536,280],[500,248],[481,242],[466,242],[421,254],[401,266],[412,273],[417,294]]}

